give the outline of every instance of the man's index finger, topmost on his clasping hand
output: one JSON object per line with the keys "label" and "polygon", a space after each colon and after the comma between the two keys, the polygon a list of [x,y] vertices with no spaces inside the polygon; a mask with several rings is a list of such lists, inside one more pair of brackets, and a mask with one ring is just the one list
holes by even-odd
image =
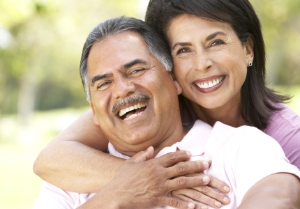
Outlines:
{"label": "man's index finger, topmost on his clasping hand", "polygon": [[192,154],[189,151],[179,150],[160,156],[156,158],[156,160],[162,167],[171,167],[172,165],[177,164],[177,162],[190,160],[190,157],[192,157]]}

